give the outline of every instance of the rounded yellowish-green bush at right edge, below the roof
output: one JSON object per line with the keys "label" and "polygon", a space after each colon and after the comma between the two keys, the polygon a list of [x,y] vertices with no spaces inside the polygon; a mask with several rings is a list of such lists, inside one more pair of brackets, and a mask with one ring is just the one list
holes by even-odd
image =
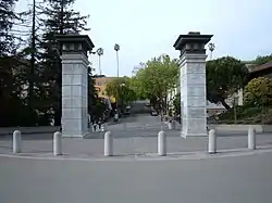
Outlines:
{"label": "rounded yellowish-green bush at right edge, below the roof", "polygon": [[272,79],[258,77],[245,87],[245,104],[254,107],[272,106]]}

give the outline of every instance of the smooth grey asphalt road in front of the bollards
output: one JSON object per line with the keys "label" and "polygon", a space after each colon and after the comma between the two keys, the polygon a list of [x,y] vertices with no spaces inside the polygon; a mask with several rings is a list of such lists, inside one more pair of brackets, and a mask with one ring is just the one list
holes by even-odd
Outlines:
{"label": "smooth grey asphalt road in front of the bollards", "polygon": [[271,203],[272,153],[200,161],[0,157],[1,203]]}

